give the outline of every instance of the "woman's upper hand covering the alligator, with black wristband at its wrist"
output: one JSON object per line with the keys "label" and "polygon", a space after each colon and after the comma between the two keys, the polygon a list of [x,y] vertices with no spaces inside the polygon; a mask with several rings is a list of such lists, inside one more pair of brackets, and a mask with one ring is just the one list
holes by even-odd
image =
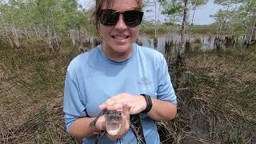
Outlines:
{"label": "woman's upper hand covering the alligator, with black wristband at its wrist", "polygon": [[146,109],[146,100],[142,95],[122,93],[106,100],[99,106],[101,110],[122,110],[122,105],[130,106],[130,114],[138,114]]}

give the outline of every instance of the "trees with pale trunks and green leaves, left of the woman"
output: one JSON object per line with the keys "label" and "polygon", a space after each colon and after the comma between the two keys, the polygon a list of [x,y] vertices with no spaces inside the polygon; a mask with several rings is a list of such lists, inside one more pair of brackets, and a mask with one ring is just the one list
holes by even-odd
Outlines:
{"label": "trees with pale trunks and green leaves, left of the woman", "polygon": [[49,50],[58,52],[63,37],[75,46],[82,34],[94,30],[90,12],[75,0],[10,0],[0,1],[0,38],[19,49],[23,39],[37,38]]}

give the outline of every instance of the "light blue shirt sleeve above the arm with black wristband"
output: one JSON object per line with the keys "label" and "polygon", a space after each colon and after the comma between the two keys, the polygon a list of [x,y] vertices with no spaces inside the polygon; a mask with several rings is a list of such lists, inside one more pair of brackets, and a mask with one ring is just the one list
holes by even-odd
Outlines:
{"label": "light blue shirt sleeve above the arm with black wristband", "polygon": [[158,71],[158,99],[172,102],[174,106],[177,106],[177,98],[174,92],[174,87],[170,82],[170,74],[168,72],[168,66],[166,59],[161,55]]}

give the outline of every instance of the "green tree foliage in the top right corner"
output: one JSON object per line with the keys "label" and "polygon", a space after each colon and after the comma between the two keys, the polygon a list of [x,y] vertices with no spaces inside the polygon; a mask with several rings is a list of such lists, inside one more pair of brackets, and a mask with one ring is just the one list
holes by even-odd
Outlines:
{"label": "green tree foliage in the top right corner", "polygon": [[248,38],[253,37],[256,33],[254,28],[256,1],[215,0],[214,2],[226,7],[225,10],[218,10],[218,13],[214,14],[219,34],[245,34]]}

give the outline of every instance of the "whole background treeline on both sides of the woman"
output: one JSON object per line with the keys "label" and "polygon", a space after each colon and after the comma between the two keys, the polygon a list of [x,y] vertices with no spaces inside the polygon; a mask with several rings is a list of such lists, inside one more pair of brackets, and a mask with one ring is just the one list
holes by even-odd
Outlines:
{"label": "whole background treeline on both sides of the woman", "polygon": [[[217,34],[220,38],[242,35],[248,46],[255,42],[256,1],[214,0],[224,9],[212,15],[216,22],[212,25],[214,29],[209,27],[208,31],[200,26],[193,26],[194,11],[207,2],[208,0],[145,0],[145,10],[147,6],[154,6],[166,15],[166,25],[158,22],[158,12],[155,13],[154,21],[143,21],[142,33],[155,34],[157,37],[158,34],[175,30],[193,33],[196,30],[200,34],[210,31],[210,34]],[[154,11],[146,10],[146,13]],[[22,40],[32,38],[45,42],[50,52],[60,50],[62,38],[70,38],[71,46],[83,48],[83,38],[90,38],[95,31],[90,19],[91,13],[91,10],[85,10],[76,0],[0,0],[0,38],[6,39],[13,49],[20,49]],[[187,18],[188,14],[193,14],[192,20]],[[186,31],[183,31],[183,35]],[[185,42],[183,43],[185,46]]]}

